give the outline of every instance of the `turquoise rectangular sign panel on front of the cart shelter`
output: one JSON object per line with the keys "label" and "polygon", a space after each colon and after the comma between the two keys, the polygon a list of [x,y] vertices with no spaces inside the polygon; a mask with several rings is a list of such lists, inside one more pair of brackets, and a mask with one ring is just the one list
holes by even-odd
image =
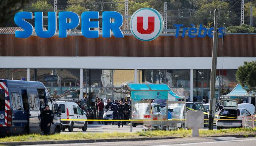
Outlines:
{"label": "turquoise rectangular sign panel on front of the cart shelter", "polygon": [[131,91],[133,100],[142,99],[168,99],[167,91]]}

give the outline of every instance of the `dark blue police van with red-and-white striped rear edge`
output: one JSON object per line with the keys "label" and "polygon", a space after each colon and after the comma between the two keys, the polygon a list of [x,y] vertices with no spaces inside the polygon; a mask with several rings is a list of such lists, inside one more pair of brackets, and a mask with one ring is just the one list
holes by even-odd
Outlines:
{"label": "dark blue police van with red-and-white striped rear edge", "polygon": [[45,105],[54,113],[50,133],[60,133],[61,113],[41,82],[0,79],[0,135],[40,133],[40,114]]}

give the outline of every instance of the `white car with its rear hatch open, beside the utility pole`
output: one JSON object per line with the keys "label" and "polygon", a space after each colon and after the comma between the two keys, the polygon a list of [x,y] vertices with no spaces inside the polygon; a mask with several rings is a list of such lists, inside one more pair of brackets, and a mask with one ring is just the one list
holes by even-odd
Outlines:
{"label": "white car with its rear hatch open, beside the utility pole", "polygon": [[242,127],[243,117],[251,116],[244,108],[237,108],[237,101],[231,99],[221,100],[223,109],[217,117],[217,129]]}

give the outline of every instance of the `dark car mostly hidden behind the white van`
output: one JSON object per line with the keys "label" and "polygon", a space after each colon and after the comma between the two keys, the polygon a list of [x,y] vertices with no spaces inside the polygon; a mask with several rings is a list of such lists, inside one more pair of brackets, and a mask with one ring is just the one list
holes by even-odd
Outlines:
{"label": "dark car mostly hidden behind the white van", "polygon": [[[84,100],[80,100],[80,99],[59,99],[58,101],[72,101],[74,103],[77,103],[77,101],[80,101],[81,103],[81,107],[84,107],[84,108],[81,108],[84,112],[85,112],[85,115],[87,117],[87,119],[90,119],[90,120],[94,120],[96,119],[96,113],[94,110],[92,110],[92,108],[90,106],[88,106]],[[93,124],[94,121],[87,121],[88,124]]]}

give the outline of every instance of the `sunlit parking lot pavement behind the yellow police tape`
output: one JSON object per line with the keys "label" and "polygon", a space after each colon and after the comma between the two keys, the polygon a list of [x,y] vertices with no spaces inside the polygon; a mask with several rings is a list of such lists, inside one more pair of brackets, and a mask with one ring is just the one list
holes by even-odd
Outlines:
{"label": "sunlit parking lot pavement behind the yellow police tape", "polygon": [[[137,125],[136,127],[133,127],[133,132],[137,132],[137,131],[142,131],[143,125]],[[205,130],[207,130],[208,128],[204,128]],[[216,127],[214,127],[214,129],[216,129]],[[74,128],[73,132],[83,132],[82,129],[78,129],[78,128]],[[94,124],[88,124],[87,127],[87,131],[86,132],[130,132],[130,124],[129,125],[124,125],[124,127],[122,128],[120,126],[120,128],[118,128],[117,125],[105,125],[105,124],[96,124],[96,122],[94,122]],[[68,132],[68,129],[66,128],[65,131],[61,131],[62,134],[67,134],[67,133],[71,133]]]}

